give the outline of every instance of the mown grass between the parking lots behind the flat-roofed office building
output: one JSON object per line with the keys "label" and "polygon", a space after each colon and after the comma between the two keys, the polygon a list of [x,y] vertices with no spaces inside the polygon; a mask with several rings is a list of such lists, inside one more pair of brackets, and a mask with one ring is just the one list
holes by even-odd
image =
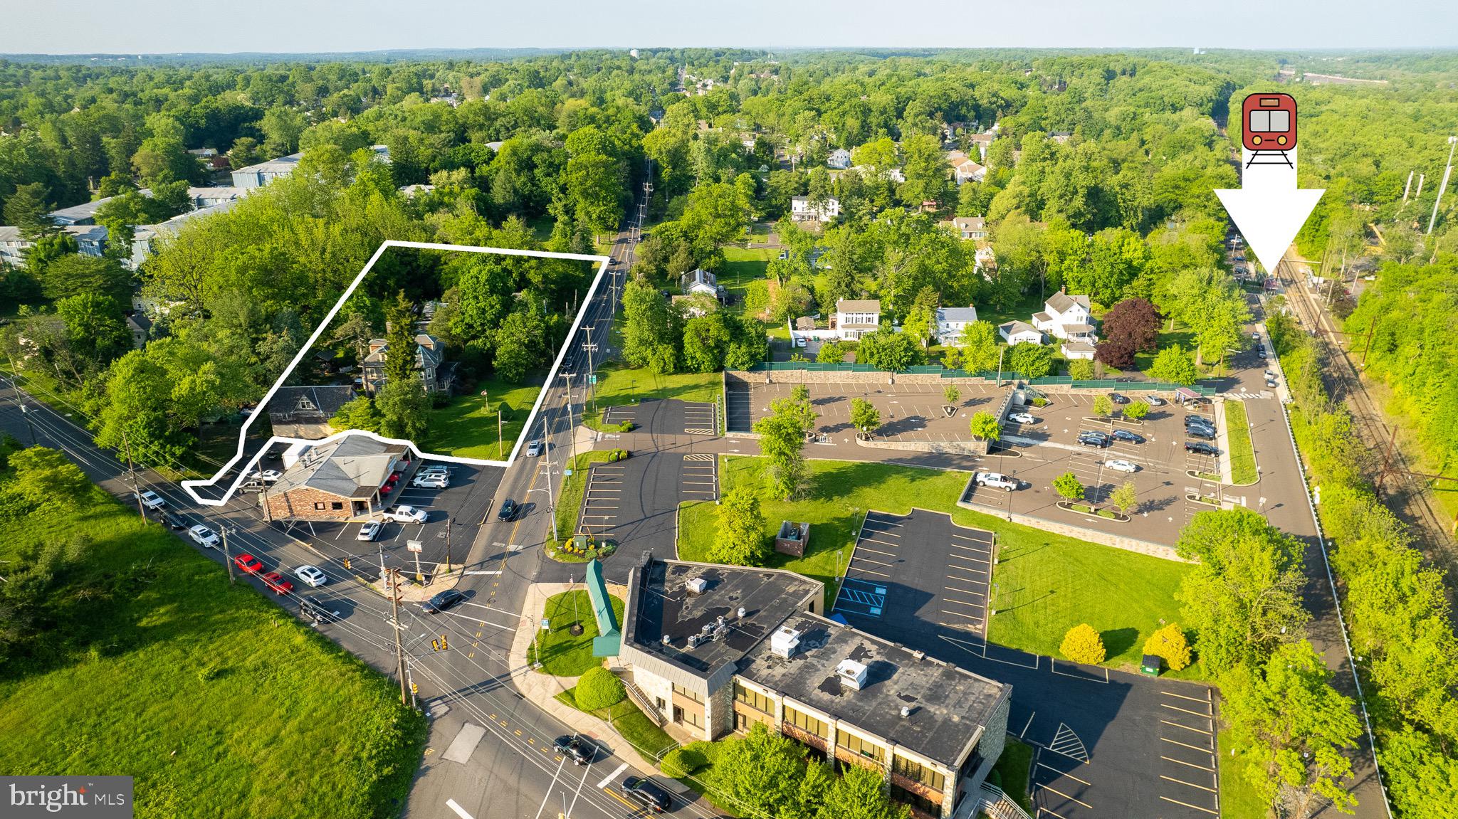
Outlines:
{"label": "mown grass between the parking lots behind the flat-roofed office building", "polygon": [[[761,494],[765,536],[783,520],[811,523],[811,545],[803,558],[776,554],[770,565],[789,568],[827,584],[827,605],[834,600],[837,576],[850,560],[868,509],[905,514],[913,506],[945,512],[962,526],[996,532],[1000,552],[990,638],[994,643],[1057,654],[1069,628],[1088,622],[1104,635],[1111,667],[1139,663],[1143,641],[1163,622],[1180,619],[1174,592],[1188,565],[1101,546],[1029,526],[1009,523],[956,506],[965,472],[916,469],[885,463],[811,461],[806,497],[783,501]],[[763,487],[764,461],[725,456],[720,482]],[[717,516],[713,503],[681,506],[679,560],[704,561],[713,544]],[[841,551],[841,555],[835,555]],[[1172,676],[1198,678],[1196,663]]]}

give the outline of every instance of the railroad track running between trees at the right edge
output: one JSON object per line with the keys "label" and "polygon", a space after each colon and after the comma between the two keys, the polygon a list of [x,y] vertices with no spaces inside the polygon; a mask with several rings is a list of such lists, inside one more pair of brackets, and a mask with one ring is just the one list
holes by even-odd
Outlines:
{"label": "railroad track running between trees at the right edge", "polygon": [[[1325,350],[1327,366],[1322,369],[1327,389],[1333,401],[1341,401],[1352,411],[1356,421],[1357,434],[1362,443],[1372,453],[1385,453],[1389,442],[1394,442],[1395,424],[1378,407],[1368,393],[1356,364],[1347,354],[1347,348],[1337,342],[1341,332],[1336,328],[1330,315],[1322,309],[1317,297],[1309,293],[1295,273],[1295,262],[1299,261],[1290,251],[1282,258],[1277,267],[1277,277],[1286,286],[1286,303],[1296,312],[1302,328],[1315,331],[1317,342]],[[1407,455],[1400,446],[1391,446],[1392,469],[1413,471]],[[1369,475],[1371,477],[1371,475]],[[1449,535],[1446,514],[1438,507],[1426,482],[1403,474],[1391,474],[1384,481],[1381,500],[1403,522],[1411,526],[1417,536],[1419,548],[1433,563],[1448,570],[1451,576],[1458,576],[1458,545]],[[1452,596],[1452,593],[1449,593]]]}

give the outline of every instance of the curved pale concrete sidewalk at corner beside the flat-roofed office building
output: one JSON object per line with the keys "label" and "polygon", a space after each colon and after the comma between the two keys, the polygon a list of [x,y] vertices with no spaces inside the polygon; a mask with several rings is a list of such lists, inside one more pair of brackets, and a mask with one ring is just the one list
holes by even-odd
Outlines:
{"label": "curved pale concrete sidewalk at corner beside the flat-roofed office building", "polygon": [[[577,678],[545,675],[532,669],[526,662],[526,651],[532,644],[532,638],[537,635],[547,600],[553,595],[580,589],[583,589],[582,583],[532,583],[526,587],[526,599],[522,602],[521,624],[516,628],[516,635],[512,640],[512,650],[506,660],[507,667],[512,669],[512,685],[516,686],[516,691],[519,691],[528,702],[537,705],[542,711],[547,711],[573,732],[596,740],[598,745],[609,749],[640,774],[658,775],[658,765],[640,755],[637,749],[633,748],[633,743],[614,730],[612,726],[593,717],[592,714],[586,714],[557,701],[558,694],[577,685]],[[609,584],[608,593],[625,599],[627,589]],[[681,787],[677,780],[669,780],[662,775],[658,775],[656,781],[672,783],[671,787],[675,787],[675,790],[677,787]]]}

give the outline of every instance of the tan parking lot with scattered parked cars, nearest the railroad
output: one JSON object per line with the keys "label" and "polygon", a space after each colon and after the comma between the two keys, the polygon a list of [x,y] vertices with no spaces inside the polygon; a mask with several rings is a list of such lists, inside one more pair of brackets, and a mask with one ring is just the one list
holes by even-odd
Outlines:
{"label": "tan parking lot with scattered parked cars, nearest the railroad", "polygon": [[[1094,415],[1094,398],[1091,393],[1053,393],[1047,407],[1019,408],[1031,412],[1037,423],[1005,423],[1005,447],[989,455],[983,469],[1012,475],[1024,482],[1024,488],[1007,493],[974,487],[964,500],[994,512],[1012,510],[1018,514],[1174,544],[1180,529],[1193,514],[1212,509],[1188,500],[1187,495],[1213,494],[1222,487],[1222,459],[1185,452],[1184,442],[1191,439],[1185,436],[1184,417],[1200,414],[1216,424],[1220,436],[1212,443],[1222,450],[1223,418],[1216,417],[1210,404],[1190,408],[1166,404],[1153,407],[1142,424],[1108,421]],[[1107,447],[1085,446],[1077,440],[1080,433],[1111,434],[1114,430],[1131,433],[1137,440],[1114,439]],[[1133,465],[1134,472],[1111,468],[1110,462],[1114,461]],[[1139,506],[1131,513],[1134,520],[1115,522],[1059,509],[1056,504],[1063,498],[1053,490],[1053,479],[1063,472],[1073,472],[1079,478],[1085,487],[1085,498],[1105,506],[1115,488],[1131,481],[1139,498]],[[1231,487],[1225,490],[1228,495],[1239,491]]]}

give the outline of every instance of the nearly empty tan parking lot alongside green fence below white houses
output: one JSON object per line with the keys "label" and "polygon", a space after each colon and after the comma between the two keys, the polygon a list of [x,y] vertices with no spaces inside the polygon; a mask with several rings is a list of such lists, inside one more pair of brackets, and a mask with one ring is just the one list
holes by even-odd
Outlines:
{"label": "nearly empty tan parking lot alongside green fence below white houses", "polygon": [[[793,383],[730,383],[726,410],[730,431],[749,431],[754,423],[770,414],[770,404],[787,398],[800,385]],[[806,383],[811,404],[819,414],[815,431],[840,443],[854,439],[850,423],[850,402],[863,398],[881,412],[876,437],[894,442],[952,442],[968,440],[968,421],[977,411],[996,412],[1010,385],[955,385],[961,391],[956,412],[946,415],[942,391],[951,383]]]}

